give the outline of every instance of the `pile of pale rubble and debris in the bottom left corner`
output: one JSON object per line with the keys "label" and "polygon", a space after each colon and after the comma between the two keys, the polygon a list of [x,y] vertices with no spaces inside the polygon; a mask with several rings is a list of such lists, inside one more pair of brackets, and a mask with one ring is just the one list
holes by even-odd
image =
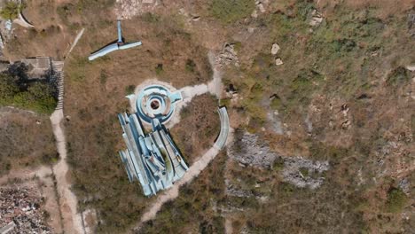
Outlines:
{"label": "pile of pale rubble and debris in the bottom left corner", "polygon": [[35,186],[0,187],[0,230],[12,233],[51,233]]}

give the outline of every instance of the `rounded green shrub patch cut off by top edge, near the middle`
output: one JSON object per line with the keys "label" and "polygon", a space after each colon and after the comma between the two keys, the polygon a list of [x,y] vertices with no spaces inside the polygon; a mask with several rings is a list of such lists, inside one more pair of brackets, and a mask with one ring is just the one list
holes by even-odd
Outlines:
{"label": "rounded green shrub patch cut off by top edge, near the middle", "polygon": [[213,0],[210,13],[223,23],[231,24],[254,12],[255,3],[250,0]]}

